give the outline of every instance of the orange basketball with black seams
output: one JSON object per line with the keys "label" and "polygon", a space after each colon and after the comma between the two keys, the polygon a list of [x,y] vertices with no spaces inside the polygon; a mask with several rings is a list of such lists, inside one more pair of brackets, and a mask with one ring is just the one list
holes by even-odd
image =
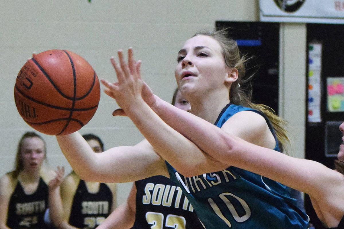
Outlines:
{"label": "orange basketball with black seams", "polygon": [[34,55],[20,69],[14,101],[24,121],[47,135],[66,135],[95,114],[100,85],[92,66],[67,50]]}

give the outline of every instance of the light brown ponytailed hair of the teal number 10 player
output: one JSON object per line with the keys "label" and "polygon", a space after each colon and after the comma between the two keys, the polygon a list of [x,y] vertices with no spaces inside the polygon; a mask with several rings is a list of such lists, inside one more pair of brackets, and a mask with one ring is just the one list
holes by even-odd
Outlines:
{"label": "light brown ponytailed hair of the teal number 10 player", "polygon": [[246,61],[250,59],[250,57],[241,55],[236,41],[228,37],[227,31],[228,29],[201,31],[196,33],[194,36],[209,36],[219,43],[222,48],[222,54],[226,66],[229,68],[236,68],[238,70],[238,79],[232,83],[229,89],[230,102],[236,105],[250,107],[264,113],[271,122],[273,129],[276,132],[278,142],[283,148],[284,145],[289,143],[288,132],[286,129],[284,129],[284,127],[287,125],[287,122],[284,119],[278,117],[269,106],[266,106],[264,104],[254,104],[251,102],[251,78],[253,77],[253,75],[248,77],[245,76],[245,64]]}

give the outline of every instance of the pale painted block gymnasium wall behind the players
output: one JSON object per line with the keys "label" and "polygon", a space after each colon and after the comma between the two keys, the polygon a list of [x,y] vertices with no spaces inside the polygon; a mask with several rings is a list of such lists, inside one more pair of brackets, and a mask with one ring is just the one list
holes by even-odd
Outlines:
{"label": "pale painted block gymnasium wall behind the players", "polygon": [[[0,174],[13,169],[17,143],[33,130],[14,104],[15,78],[33,52],[71,50],[84,57],[99,78],[115,81],[109,58],[118,49],[133,47],[142,60],[142,77],[152,90],[171,101],[176,87],[176,54],[196,31],[213,28],[216,20],[257,21],[258,0],[0,0]],[[291,152],[304,155],[305,25],[281,25],[280,114],[290,124]],[[103,89],[103,87],[102,87]],[[93,119],[79,132],[94,133],[105,148],[135,145],[143,139],[126,117],[112,117],[118,108],[102,91]],[[71,167],[54,136],[47,142],[49,165]],[[115,172],[115,171],[114,171]],[[125,201],[132,183],[119,184],[118,203]]]}

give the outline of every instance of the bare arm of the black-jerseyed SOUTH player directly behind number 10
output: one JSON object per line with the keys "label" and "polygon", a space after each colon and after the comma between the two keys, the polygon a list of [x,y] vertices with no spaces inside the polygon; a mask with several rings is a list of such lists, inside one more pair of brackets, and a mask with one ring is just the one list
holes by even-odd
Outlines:
{"label": "bare arm of the black-jerseyed SOUTH player directly behind number 10", "polygon": [[136,187],[133,184],[127,201],[118,206],[96,229],[129,229],[135,222]]}

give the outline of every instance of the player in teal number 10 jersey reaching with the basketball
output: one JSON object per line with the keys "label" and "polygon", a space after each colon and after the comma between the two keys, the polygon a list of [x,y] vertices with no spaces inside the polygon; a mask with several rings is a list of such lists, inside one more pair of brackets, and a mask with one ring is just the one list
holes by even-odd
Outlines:
{"label": "player in teal number 10 jersey reaching with the basketball", "polygon": [[[281,119],[264,106],[250,103],[241,92],[238,81],[245,75],[245,60],[240,58],[235,41],[225,36],[217,38],[217,33],[196,35],[178,53],[175,76],[191,104],[190,112],[215,123],[228,103],[248,106],[258,113],[233,112],[221,123],[221,129],[258,146],[278,149],[275,132],[282,144],[287,141]],[[105,92],[116,99],[149,144],[143,141],[134,147],[115,147],[103,157],[95,156],[78,133],[57,136],[67,160],[80,176],[112,182],[158,174],[170,177],[182,188],[207,229],[308,227],[308,217],[295,207],[286,186],[230,168],[228,163],[203,154],[193,142],[164,123],[148,105],[155,101],[145,103],[141,97],[144,83],[136,80],[140,61],[133,60],[131,49],[128,64],[122,51],[118,55],[120,65],[111,60],[118,83],[102,80],[108,88]],[[274,131],[260,112],[269,118]]]}

